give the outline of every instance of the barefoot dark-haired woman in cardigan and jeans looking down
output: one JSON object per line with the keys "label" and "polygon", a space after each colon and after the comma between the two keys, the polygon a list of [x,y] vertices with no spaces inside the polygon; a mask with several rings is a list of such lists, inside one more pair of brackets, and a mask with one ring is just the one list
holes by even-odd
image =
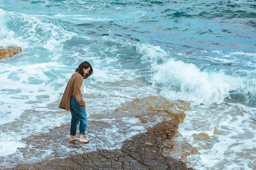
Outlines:
{"label": "barefoot dark-haired woman in cardigan and jeans looking down", "polygon": [[[83,79],[87,79],[93,74],[93,68],[89,62],[82,62],[76,69],[76,72],[72,74],[64,94],[61,99],[59,108],[65,109],[71,112],[71,126],[70,126],[70,142],[78,140],[79,142],[88,143],[89,140],[84,139],[87,117],[85,110],[85,102],[82,98],[84,93]],[[76,137],[76,128],[79,124],[79,138]]]}

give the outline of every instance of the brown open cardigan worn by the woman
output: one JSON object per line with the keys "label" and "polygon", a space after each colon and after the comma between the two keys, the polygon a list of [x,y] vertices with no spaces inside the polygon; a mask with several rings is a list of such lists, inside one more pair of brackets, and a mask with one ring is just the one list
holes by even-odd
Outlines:
{"label": "brown open cardigan worn by the woman", "polygon": [[83,82],[83,77],[81,76],[81,74],[79,74],[79,72],[72,74],[69,82],[67,83],[67,87],[64,91],[64,94],[62,96],[59,108],[69,111],[70,99],[72,96],[74,97],[74,99],[76,99],[76,102],[78,102],[79,105],[85,107],[85,102],[81,96],[81,91],[80,91],[82,82]]}

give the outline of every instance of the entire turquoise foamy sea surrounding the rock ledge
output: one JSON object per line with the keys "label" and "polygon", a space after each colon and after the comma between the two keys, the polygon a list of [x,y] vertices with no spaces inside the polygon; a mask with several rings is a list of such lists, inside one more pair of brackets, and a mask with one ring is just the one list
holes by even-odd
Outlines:
{"label": "entire turquoise foamy sea surrounding the rock ledge", "polygon": [[[3,160],[28,147],[21,138],[69,122],[69,113],[54,119],[58,100],[86,60],[89,114],[149,95],[186,101],[184,139],[197,147],[193,133],[212,137],[188,156],[191,166],[256,168],[255,0],[2,0],[0,46],[8,45],[23,52],[0,60]],[[49,116],[35,121],[30,111]]]}

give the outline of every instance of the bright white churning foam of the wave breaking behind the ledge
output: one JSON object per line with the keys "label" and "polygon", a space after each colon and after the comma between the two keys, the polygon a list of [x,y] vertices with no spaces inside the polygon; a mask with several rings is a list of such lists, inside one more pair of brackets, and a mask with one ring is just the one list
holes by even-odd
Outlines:
{"label": "bright white churning foam of the wave breaking behind the ledge", "polygon": [[157,65],[153,70],[153,87],[160,85],[160,94],[169,99],[197,104],[221,103],[230,96],[230,91],[246,95],[256,90],[256,79],[231,77],[223,72],[201,72],[193,64],[174,60]]}

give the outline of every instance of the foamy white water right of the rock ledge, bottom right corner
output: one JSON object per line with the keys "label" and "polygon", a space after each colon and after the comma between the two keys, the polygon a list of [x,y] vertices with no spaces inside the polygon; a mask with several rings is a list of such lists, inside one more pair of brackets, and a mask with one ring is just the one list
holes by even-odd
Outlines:
{"label": "foamy white water right of the rock ledge, bottom right corner", "polygon": [[[187,111],[184,123],[179,125],[179,132],[193,147],[198,147],[198,154],[187,158],[195,169],[221,170],[244,169],[253,170],[256,161],[254,142],[256,142],[256,124],[251,122],[252,115],[243,112],[237,103],[196,106],[197,111]],[[214,127],[220,135],[214,135]],[[207,133],[208,141],[197,141],[192,133]],[[207,149],[202,149],[207,145]],[[244,155],[251,155],[245,158]],[[203,168],[204,167],[204,168]]]}

